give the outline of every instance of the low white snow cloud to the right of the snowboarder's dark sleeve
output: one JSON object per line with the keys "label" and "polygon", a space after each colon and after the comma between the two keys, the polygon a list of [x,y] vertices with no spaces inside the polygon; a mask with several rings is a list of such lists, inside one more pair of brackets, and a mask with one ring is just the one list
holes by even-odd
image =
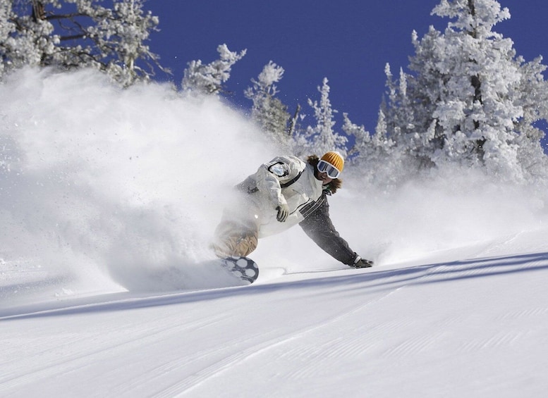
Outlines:
{"label": "low white snow cloud to the right of the snowboarder's dark sleeve", "polygon": [[500,182],[482,170],[431,170],[388,190],[355,180],[346,185],[359,189],[341,190],[341,204],[331,206],[343,220],[341,235],[358,235],[357,250],[378,265],[506,242],[547,221],[544,192]]}

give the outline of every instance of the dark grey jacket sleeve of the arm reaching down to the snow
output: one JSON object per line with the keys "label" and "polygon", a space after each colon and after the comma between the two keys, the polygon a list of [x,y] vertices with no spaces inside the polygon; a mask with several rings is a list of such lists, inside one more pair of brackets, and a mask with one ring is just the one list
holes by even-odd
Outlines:
{"label": "dark grey jacket sleeve of the arm reaching down to the snow", "polygon": [[347,266],[353,265],[357,254],[348,247],[348,242],[343,240],[339,232],[335,230],[333,223],[331,223],[327,195],[322,194],[317,203],[319,203],[319,206],[306,215],[299,225],[306,235],[327,254]]}

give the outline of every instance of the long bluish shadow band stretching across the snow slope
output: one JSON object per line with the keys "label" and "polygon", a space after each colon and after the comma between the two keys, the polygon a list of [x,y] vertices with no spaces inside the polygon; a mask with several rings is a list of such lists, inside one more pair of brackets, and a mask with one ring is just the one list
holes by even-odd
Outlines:
{"label": "long bluish shadow band stretching across the snow slope", "polygon": [[[44,304],[43,309],[38,309],[37,305],[32,306],[32,311],[25,311],[25,307],[7,309],[0,313],[0,320],[8,321],[9,319],[16,318],[37,318],[102,311],[126,311],[152,306],[229,299],[250,296],[252,294],[276,292],[277,290],[287,291],[289,289],[317,290],[324,287],[339,287],[339,289],[343,288],[342,290],[391,290],[403,286],[451,282],[470,278],[486,278],[495,275],[508,275],[546,269],[548,269],[548,252],[433,263],[395,270],[378,270],[376,268],[366,268],[364,270],[350,269],[349,272],[351,272],[351,275],[324,276],[293,282],[265,282],[248,287],[224,287],[211,290],[171,292],[157,296],[150,296],[148,294],[145,297],[129,298],[127,297],[128,293],[105,294],[104,296],[92,297],[92,299],[103,301],[99,303],[89,303],[90,298],[87,297],[87,299],[84,299],[87,301],[82,301],[82,304],[78,304],[78,300],[75,300],[61,303],[64,306],[57,308],[52,308],[52,304],[49,304],[48,308]],[[290,275],[298,274],[300,273]]]}

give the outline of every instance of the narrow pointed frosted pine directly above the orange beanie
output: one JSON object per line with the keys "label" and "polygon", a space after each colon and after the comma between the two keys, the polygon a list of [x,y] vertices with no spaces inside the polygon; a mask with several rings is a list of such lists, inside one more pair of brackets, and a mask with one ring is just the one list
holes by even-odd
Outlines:
{"label": "narrow pointed frosted pine directly above the orange beanie", "polygon": [[318,87],[319,102],[308,99],[308,105],[314,110],[316,124],[309,125],[305,132],[300,132],[296,137],[296,152],[299,155],[339,151],[343,157],[346,157],[348,138],[333,130],[335,125],[333,114],[337,111],[331,107],[330,88],[327,83],[327,77],[324,77],[322,87]]}

